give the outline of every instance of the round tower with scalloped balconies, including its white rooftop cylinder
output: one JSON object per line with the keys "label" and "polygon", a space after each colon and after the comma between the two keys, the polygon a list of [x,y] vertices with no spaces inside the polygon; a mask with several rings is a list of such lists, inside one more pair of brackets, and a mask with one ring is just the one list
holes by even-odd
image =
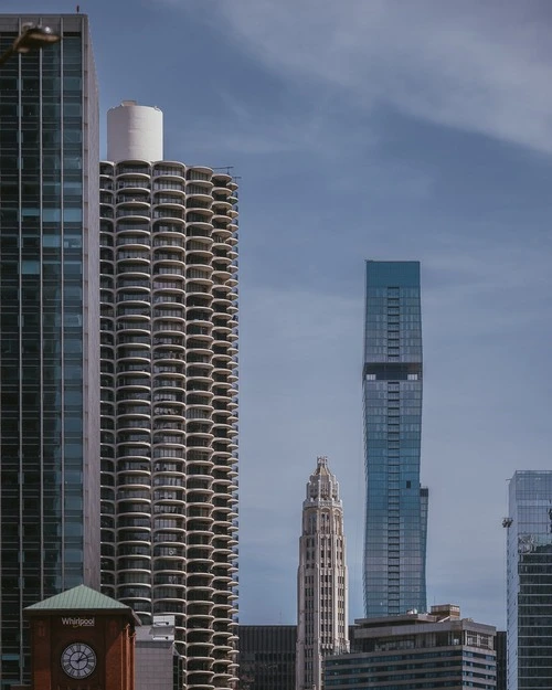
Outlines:
{"label": "round tower with scalloped balconies, including its white rooftop cylinder", "polygon": [[102,582],[174,616],[188,689],[236,682],[237,185],[124,102],[100,164]]}

